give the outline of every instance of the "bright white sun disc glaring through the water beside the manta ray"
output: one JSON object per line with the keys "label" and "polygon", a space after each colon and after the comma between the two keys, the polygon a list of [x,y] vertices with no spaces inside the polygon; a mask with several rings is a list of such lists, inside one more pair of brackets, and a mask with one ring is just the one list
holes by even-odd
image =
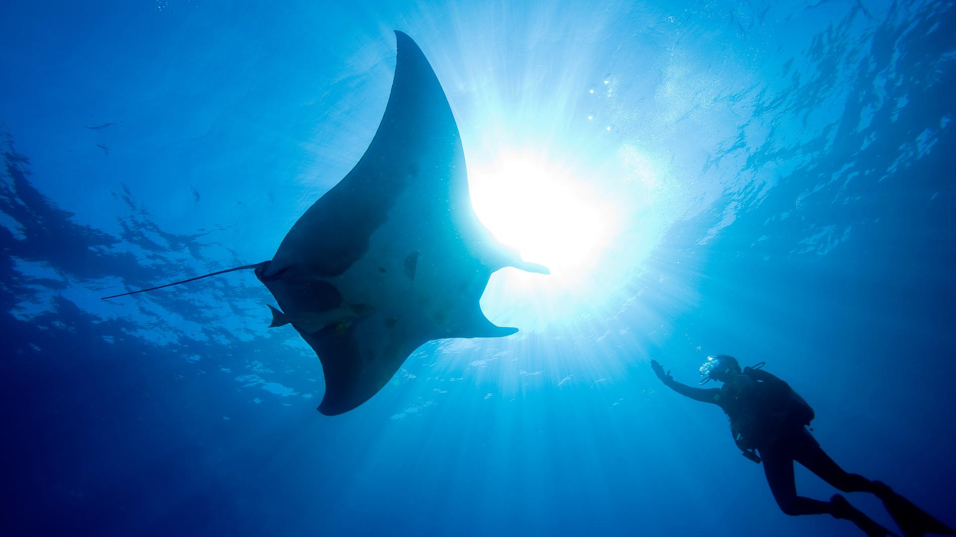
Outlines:
{"label": "bright white sun disc glaring through the water beside the manta ray", "polygon": [[468,170],[471,203],[482,223],[558,279],[590,269],[615,231],[615,211],[586,184],[531,153],[502,154]]}

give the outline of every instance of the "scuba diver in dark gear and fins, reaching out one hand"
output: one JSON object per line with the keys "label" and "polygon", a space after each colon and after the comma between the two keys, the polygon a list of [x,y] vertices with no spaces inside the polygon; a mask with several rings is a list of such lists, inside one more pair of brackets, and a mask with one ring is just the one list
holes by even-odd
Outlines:
{"label": "scuba diver in dark gear and fins, reaching out one hand", "polygon": [[926,533],[956,534],[888,485],[840,468],[807,430],[814,419],[814,409],[789,384],[763,371],[763,364],[741,370],[733,356],[707,356],[701,367],[703,378],[700,384],[717,380],[724,385],[705,389],[675,381],[669,371],[664,373],[657,360],[651,360],[655,375],[668,388],[682,396],[716,404],[724,410],[730,419],[730,433],[743,455],[750,461],[764,463],[773,499],[784,513],[793,516],[829,513],[834,518],[853,522],[871,537],[895,535],[850,505],[840,494],[835,494],[829,502],[797,496],[793,481],[795,461],[842,492],[876,495],[905,537],[921,537]]}

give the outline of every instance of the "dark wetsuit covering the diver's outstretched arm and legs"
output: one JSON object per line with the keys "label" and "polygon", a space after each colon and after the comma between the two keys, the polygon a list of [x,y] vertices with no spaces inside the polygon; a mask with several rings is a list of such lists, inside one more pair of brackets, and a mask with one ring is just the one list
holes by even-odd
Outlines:
{"label": "dark wetsuit covering the diver's outstretched arm and legs", "polygon": [[[725,404],[730,399],[726,393],[728,385],[725,385],[725,388],[692,388],[673,379],[665,380],[664,384],[682,396],[716,404],[728,414],[733,412],[731,408],[728,408],[729,404]],[[820,444],[803,425],[784,423],[772,437],[774,438],[758,441],[756,449],[764,462],[764,472],[767,475],[767,483],[771,485],[773,499],[784,513],[788,515],[835,513],[835,506],[831,502],[821,502],[796,495],[796,485],[793,481],[794,461],[803,464],[820,479],[843,492],[875,492],[872,481],[840,468],[820,448]]]}

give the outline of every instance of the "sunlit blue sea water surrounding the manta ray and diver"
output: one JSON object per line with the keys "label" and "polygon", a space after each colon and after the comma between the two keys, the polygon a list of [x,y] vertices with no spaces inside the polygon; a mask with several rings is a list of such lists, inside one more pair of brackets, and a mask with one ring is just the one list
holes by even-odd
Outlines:
{"label": "sunlit blue sea water surrounding the manta ray and diver", "polygon": [[[766,360],[837,462],[956,523],[951,2],[2,11],[4,534],[855,534],[782,514],[648,366],[707,354]],[[479,216],[553,266],[492,276],[521,333],[327,418],[249,272],[98,300],[269,259],[371,140],[394,29]]]}

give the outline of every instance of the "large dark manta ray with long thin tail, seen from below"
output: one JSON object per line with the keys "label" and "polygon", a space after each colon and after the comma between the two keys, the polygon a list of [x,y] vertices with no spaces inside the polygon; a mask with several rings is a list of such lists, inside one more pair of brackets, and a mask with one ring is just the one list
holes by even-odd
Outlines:
{"label": "large dark manta ray with long thin tail, seen from below", "polygon": [[[365,154],[254,269],[325,375],[318,411],[348,412],[377,394],[432,339],[500,337],[479,299],[504,267],[547,274],[502,245],[475,215],[465,153],[445,92],[418,45],[395,32],[398,59],[385,114]],[[115,298],[146,290],[108,296]]]}

